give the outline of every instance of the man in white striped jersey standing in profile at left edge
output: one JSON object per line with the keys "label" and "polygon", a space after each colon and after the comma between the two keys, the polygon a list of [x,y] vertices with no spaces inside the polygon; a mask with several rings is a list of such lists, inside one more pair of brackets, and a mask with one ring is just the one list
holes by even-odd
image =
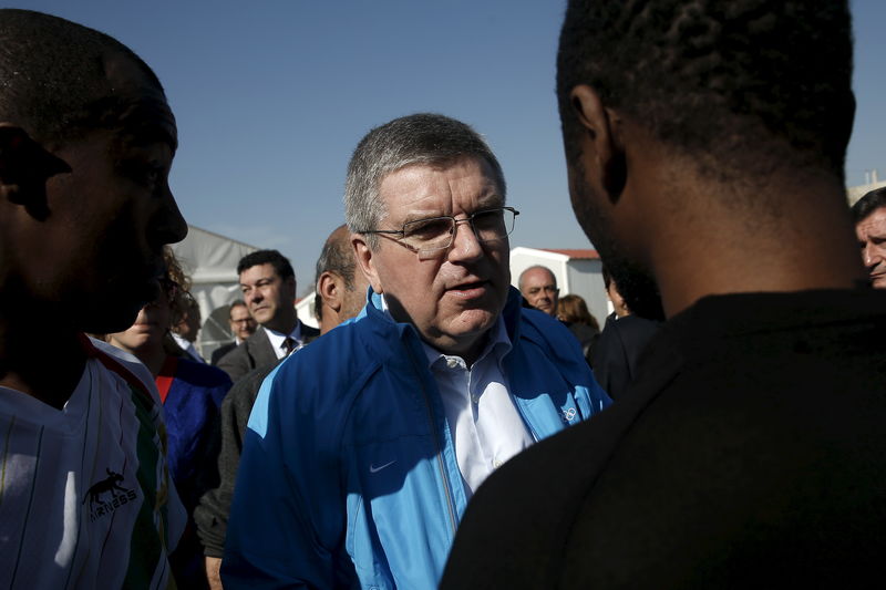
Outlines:
{"label": "man in white striped jersey standing in profile at left edge", "polygon": [[83,333],[131,325],[187,232],[175,118],[107,35],[0,10],[0,588],[167,588],[185,514],[157,391]]}

